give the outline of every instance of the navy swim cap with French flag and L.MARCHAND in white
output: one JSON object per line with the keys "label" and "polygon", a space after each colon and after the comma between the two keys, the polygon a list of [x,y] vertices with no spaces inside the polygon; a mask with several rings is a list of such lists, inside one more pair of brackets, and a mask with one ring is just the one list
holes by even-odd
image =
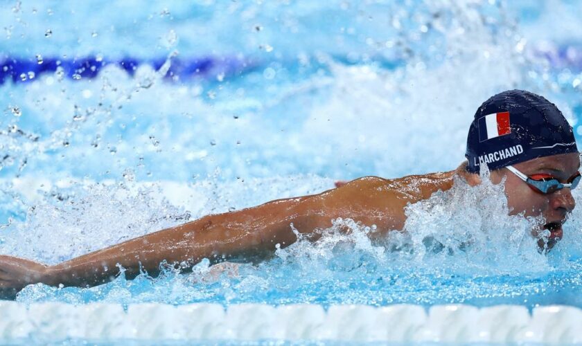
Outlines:
{"label": "navy swim cap with French flag and L.MARCHAND in white", "polygon": [[478,173],[533,158],[578,152],[572,127],[555,104],[540,95],[509,90],[483,102],[469,127],[468,172]]}

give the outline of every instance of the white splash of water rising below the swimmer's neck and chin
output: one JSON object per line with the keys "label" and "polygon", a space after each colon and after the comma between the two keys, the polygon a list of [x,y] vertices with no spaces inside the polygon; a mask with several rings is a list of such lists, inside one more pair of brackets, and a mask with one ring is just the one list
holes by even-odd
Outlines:
{"label": "white splash of water rising below the swimmer's neck and chin", "polygon": [[463,258],[460,268],[471,271],[478,266],[488,270],[494,266],[499,271],[547,270],[547,261],[531,236],[543,220],[509,216],[503,184],[494,185],[488,176],[482,180],[472,188],[456,178],[450,190],[406,208],[404,229],[416,259],[423,261],[436,251],[459,255]]}

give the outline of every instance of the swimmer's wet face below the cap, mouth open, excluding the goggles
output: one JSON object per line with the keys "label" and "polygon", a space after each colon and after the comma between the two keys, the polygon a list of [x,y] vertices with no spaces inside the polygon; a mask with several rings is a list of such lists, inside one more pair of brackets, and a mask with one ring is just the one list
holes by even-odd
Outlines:
{"label": "swimmer's wet face below the cap, mouth open, excluding the goggles", "polygon": [[[527,176],[549,174],[561,183],[567,183],[578,172],[580,160],[577,153],[560,154],[516,163],[513,167]],[[570,188],[563,188],[551,194],[541,194],[529,188],[527,183],[506,168],[491,172],[493,183],[500,183],[504,178],[510,214],[523,213],[524,216],[544,217],[546,224],[540,229],[532,230],[532,235],[538,237],[543,230],[548,229],[550,235],[547,247],[552,248],[559,239],[562,239],[562,224],[576,206]],[[545,247],[542,239],[538,241],[538,245],[540,248]]]}

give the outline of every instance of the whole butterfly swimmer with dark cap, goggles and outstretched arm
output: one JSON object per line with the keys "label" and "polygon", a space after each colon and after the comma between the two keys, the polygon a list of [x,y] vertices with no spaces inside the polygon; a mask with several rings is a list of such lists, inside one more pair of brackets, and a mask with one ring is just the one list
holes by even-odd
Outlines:
{"label": "whole butterfly swimmer with dark cap, goggles and outstretched arm", "polygon": [[511,215],[545,219],[543,226],[531,231],[540,251],[561,239],[562,225],[575,206],[570,190],[580,180],[580,161],[572,127],[554,104],[527,91],[493,96],[477,109],[466,158],[450,172],[389,180],[365,177],[320,194],[208,215],[55,266],[0,256],[0,291],[13,298],[24,286],[37,282],[95,286],[112,280],[118,273],[111,268],[118,265],[132,278],[140,273],[140,266],[157,275],[164,260],[183,271],[203,258],[212,263],[256,262],[270,257],[276,246],[295,242],[294,230],[317,240],[317,230],[329,228],[337,217],[374,224],[377,231],[370,236],[382,238],[403,230],[409,203],[452,188],[455,177],[469,185],[481,183],[479,171],[484,165],[491,170],[493,183],[504,182]]}

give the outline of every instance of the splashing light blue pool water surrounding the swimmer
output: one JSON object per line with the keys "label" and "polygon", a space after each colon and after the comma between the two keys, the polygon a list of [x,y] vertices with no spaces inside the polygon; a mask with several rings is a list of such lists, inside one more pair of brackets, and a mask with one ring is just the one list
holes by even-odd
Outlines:
{"label": "splashing light blue pool water surrounding the swimmer", "polygon": [[[46,264],[335,179],[452,170],[475,109],[505,89],[545,95],[582,134],[572,1],[1,7],[0,253]],[[222,274],[202,262],[17,300],[582,307],[582,213],[543,255],[536,220],[504,202],[459,183],[378,244],[372,225],[336,220]]]}

